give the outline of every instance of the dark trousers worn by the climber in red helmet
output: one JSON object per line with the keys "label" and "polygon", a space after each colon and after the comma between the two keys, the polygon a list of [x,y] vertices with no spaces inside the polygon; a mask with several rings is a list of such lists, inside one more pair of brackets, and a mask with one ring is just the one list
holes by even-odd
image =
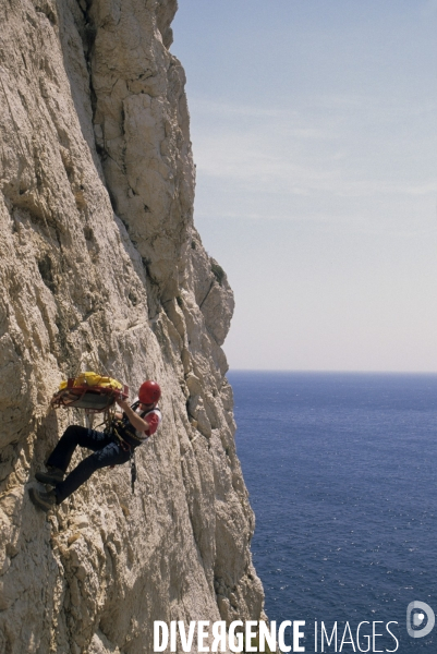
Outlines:
{"label": "dark trousers worn by the climber in red helmet", "polygon": [[93,472],[107,465],[120,465],[130,459],[130,450],[124,451],[113,436],[95,432],[78,425],[68,427],[60,441],[47,460],[47,465],[66,471],[77,445],[94,451],[64,479],[56,485],[57,502],[61,504],[69,495],[92,476]]}

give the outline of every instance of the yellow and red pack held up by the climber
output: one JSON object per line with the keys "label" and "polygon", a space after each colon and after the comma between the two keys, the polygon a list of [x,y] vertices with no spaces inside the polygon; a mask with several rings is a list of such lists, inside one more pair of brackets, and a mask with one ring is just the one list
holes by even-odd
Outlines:
{"label": "yellow and red pack held up by the climber", "polygon": [[96,373],[81,373],[62,382],[53,395],[51,405],[54,409],[68,407],[85,409],[87,413],[109,411],[117,399],[125,400],[129,388],[112,377],[104,377]]}

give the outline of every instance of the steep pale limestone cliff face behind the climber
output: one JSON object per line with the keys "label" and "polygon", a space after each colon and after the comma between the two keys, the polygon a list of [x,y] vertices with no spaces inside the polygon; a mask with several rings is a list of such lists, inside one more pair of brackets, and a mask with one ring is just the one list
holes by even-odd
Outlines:
{"label": "steep pale limestone cliff face behind the climber", "polygon": [[[0,652],[139,654],[154,620],[258,620],[254,519],[193,227],[175,0],[0,3]],[[46,516],[28,488],[83,370],[163,389],[160,433]],[[96,422],[96,421],[95,421]],[[97,421],[99,422],[99,421]],[[76,452],[74,461],[84,452]]]}

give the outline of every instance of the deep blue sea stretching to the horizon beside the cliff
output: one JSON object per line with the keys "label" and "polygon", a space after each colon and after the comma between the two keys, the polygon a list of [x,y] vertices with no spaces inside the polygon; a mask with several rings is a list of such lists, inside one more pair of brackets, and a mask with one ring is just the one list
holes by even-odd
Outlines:
{"label": "deep blue sea stretching to the horizon beside the cliff", "polygon": [[397,652],[435,654],[437,626],[411,638],[406,606],[421,601],[437,614],[437,375],[228,377],[269,619],[305,620],[306,652],[316,620],[328,634],[338,622],[338,649],[349,621],[356,651],[367,620],[363,634],[373,621],[385,634],[371,652],[396,649],[385,625],[397,621]]}

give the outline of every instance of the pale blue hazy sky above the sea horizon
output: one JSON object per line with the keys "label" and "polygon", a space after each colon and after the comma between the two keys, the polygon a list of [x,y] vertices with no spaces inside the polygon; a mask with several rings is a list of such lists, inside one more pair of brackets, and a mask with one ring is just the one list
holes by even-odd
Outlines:
{"label": "pale blue hazy sky above the sea horizon", "polygon": [[437,0],[179,0],[232,370],[437,372]]}

